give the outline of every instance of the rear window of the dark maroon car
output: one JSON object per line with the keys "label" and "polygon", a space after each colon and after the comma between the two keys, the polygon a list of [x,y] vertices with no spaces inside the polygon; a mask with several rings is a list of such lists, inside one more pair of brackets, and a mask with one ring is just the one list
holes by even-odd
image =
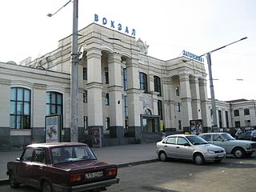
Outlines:
{"label": "rear window of the dark maroon car", "polygon": [[96,160],[89,146],[62,146],[51,150],[53,164],[74,161]]}

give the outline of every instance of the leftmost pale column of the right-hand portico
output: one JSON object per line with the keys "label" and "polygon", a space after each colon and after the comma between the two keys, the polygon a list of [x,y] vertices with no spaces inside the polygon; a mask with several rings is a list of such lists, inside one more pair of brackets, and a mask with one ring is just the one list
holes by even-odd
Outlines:
{"label": "leftmost pale column of the right-hand portico", "polygon": [[181,86],[181,112],[183,130],[190,129],[190,120],[192,119],[191,94],[190,94],[190,76],[182,74],[179,76]]}

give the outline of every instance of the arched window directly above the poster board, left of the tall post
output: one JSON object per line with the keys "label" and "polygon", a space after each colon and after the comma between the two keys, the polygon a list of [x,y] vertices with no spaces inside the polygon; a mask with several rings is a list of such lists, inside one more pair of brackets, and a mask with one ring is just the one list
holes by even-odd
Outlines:
{"label": "arched window directly above the poster board, left of the tall post", "polygon": [[62,94],[54,91],[46,93],[46,114],[62,114],[63,98]]}

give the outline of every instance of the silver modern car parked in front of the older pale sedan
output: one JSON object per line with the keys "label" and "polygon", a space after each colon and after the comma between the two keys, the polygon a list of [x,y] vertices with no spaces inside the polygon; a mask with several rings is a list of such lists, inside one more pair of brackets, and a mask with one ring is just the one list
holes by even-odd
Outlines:
{"label": "silver modern car parked in front of the older pale sedan", "polygon": [[226,151],[214,146],[195,134],[173,134],[157,142],[156,153],[161,161],[167,158],[190,159],[196,164],[221,162],[226,158]]}

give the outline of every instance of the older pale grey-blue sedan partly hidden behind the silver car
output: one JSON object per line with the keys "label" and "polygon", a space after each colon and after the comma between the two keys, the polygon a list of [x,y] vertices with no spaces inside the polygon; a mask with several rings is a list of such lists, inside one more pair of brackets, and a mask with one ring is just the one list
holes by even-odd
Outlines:
{"label": "older pale grey-blue sedan partly hidden behind the silver car", "polygon": [[233,154],[235,158],[250,157],[256,150],[256,142],[235,140],[228,133],[204,133],[199,136],[216,146],[222,146],[226,154]]}

